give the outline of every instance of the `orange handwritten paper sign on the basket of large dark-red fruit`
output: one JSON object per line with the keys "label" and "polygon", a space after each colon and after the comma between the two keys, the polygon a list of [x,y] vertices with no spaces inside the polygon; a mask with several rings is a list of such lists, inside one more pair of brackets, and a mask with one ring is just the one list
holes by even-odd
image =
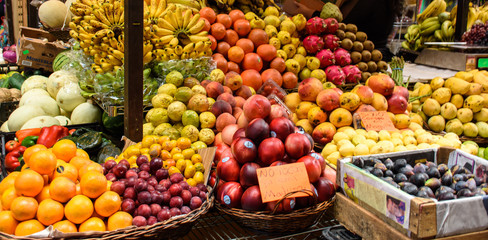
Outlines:
{"label": "orange handwritten paper sign on the basket of large dark-red fruit", "polygon": [[[310,188],[305,163],[291,163],[281,166],[256,169],[263,202],[280,200],[287,193]],[[306,193],[296,193],[290,197],[306,197]]]}

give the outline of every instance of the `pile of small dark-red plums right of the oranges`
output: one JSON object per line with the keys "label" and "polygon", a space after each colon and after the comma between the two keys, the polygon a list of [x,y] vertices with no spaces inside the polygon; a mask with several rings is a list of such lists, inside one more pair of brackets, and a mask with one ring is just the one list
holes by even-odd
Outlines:
{"label": "pile of small dark-red plums right of the oranges", "polygon": [[159,157],[149,161],[145,155],[136,160],[138,168],[130,168],[127,160],[104,163],[105,177],[112,181],[110,190],[122,197],[122,211],[130,213],[138,227],[162,222],[199,208],[207,199],[204,184],[190,186],[181,173],[171,176],[162,168]]}

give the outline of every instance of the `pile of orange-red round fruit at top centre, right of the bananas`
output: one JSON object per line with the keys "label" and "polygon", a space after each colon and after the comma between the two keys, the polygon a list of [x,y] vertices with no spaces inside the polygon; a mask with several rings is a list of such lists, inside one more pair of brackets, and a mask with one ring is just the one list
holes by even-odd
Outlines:
{"label": "pile of orange-red round fruit at top centre, right of the bananas", "polygon": [[269,79],[280,87],[296,86],[295,75],[281,75],[286,69],[285,62],[277,57],[276,48],[268,44],[268,34],[260,28],[253,29],[242,11],[216,15],[211,8],[204,8],[200,12],[212,24],[209,38],[212,50],[216,51],[213,59],[224,74],[240,74],[242,84],[254,91]]}

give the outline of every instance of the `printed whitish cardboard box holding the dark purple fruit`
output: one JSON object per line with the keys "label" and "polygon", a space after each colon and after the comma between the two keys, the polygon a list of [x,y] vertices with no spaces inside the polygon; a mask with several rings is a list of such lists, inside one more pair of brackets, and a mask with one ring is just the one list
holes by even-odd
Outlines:
{"label": "printed whitish cardboard box holding the dark purple fruit", "polygon": [[[393,161],[403,158],[412,166],[432,161],[445,163],[448,167],[465,166],[474,174],[478,174],[482,165],[488,168],[488,161],[458,149],[441,147],[345,158],[337,169],[337,184],[345,196],[407,236],[445,237],[488,228],[488,207],[484,204],[488,196],[440,202],[415,197],[356,167],[352,164],[354,158],[390,158]],[[486,171],[482,172],[486,174]],[[390,208],[392,204],[397,206],[394,214]]]}

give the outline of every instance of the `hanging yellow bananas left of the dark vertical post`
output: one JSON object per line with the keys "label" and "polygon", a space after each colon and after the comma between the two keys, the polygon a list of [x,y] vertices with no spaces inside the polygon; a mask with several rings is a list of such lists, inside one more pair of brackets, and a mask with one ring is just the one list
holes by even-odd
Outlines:
{"label": "hanging yellow bananas left of the dark vertical post", "polygon": [[114,71],[124,62],[124,3],[120,0],[77,0],[69,23],[70,36],[92,56],[92,69]]}

